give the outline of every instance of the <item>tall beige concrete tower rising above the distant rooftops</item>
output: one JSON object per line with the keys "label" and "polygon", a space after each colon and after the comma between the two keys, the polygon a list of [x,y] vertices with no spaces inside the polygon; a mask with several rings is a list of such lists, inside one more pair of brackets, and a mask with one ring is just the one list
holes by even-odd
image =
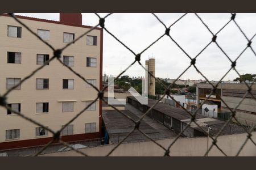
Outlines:
{"label": "tall beige concrete tower rising above the distant rooftops", "polygon": [[[155,58],[150,58],[145,62],[147,70],[155,76]],[[148,74],[148,95],[155,96],[155,79]]]}

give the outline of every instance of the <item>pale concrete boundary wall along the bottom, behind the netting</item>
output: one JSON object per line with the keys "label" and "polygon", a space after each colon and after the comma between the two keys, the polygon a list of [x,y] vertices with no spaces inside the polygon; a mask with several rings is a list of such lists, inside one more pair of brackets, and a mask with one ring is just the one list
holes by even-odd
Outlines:
{"label": "pale concrete boundary wall along the bottom, behind the netting", "polygon": [[[220,136],[217,139],[217,145],[228,155],[235,156],[246,140],[246,133]],[[252,133],[254,142],[256,142],[256,132]],[[174,138],[162,139],[156,142],[165,148],[168,147]],[[209,146],[212,140],[209,140]],[[89,156],[105,156],[115,145],[104,145],[98,147],[84,148],[80,151],[85,152]],[[207,137],[197,138],[179,138],[171,147],[171,156],[204,156],[207,150]],[[110,156],[163,156],[164,150],[155,143],[148,142],[132,142],[123,143]],[[81,156],[75,151],[56,152],[40,156]],[[215,146],[210,150],[208,156],[224,156]],[[256,156],[256,146],[249,140],[241,151],[239,156]]]}

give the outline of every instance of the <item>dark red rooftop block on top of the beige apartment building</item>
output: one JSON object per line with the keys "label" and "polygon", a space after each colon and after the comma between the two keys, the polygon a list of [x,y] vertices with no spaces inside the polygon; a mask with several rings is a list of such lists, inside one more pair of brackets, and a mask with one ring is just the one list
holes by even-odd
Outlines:
{"label": "dark red rooftop block on top of the beige apartment building", "polygon": [[82,25],[81,13],[60,13],[60,22]]}

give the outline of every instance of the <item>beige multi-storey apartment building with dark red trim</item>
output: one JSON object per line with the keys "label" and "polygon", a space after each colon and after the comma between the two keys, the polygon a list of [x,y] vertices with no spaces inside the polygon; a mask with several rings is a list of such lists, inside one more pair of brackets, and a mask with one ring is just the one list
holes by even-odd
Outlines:
{"label": "beige multi-storey apartment building with dark red trim", "polygon": [[[60,22],[16,16],[55,49],[63,48],[90,26],[82,25],[82,15],[60,14]],[[70,45],[61,60],[97,88],[102,87],[102,28],[96,28]],[[0,15],[0,94],[43,65],[53,51],[7,14]],[[38,71],[7,96],[9,107],[27,117],[59,130],[82,111],[97,91],[73,74],[57,59]],[[101,101],[89,107],[62,133],[64,141],[101,137]],[[0,150],[44,145],[52,138],[46,129],[0,107]]]}

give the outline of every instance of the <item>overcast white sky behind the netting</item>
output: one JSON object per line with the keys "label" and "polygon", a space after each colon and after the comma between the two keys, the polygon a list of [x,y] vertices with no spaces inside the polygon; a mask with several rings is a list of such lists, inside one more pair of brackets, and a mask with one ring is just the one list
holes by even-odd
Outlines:
{"label": "overcast white sky behind the netting", "polygon": [[[21,14],[16,15],[32,16],[59,21],[59,14]],[[105,16],[106,14],[99,14]],[[171,25],[183,14],[156,14],[166,24]],[[230,19],[230,14],[199,14],[213,33],[216,33]],[[245,35],[250,39],[256,33],[256,14],[237,14],[236,21],[241,26]],[[82,24],[96,25],[98,18],[95,14],[82,14]],[[105,22],[113,35],[125,43],[135,53],[142,52],[148,45],[158,39],[165,28],[156,20],[152,14],[112,14]],[[170,35],[192,58],[200,52],[212,39],[212,35],[200,22],[195,14],[187,14],[173,27]],[[253,39],[254,50],[256,50],[256,37]],[[231,22],[217,36],[217,42],[228,56],[234,60],[246,47],[247,40],[242,33]],[[179,76],[190,64],[190,59],[177,47],[170,39],[164,36],[156,44],[151,46],[142,54],[141,62],[153,57],[156,59],[156,76],[160,78],[174,79]],[[134,55],[116,41],[108,32],[104,31],[104,51],[103,51],[103,72],[117,75],[131,62]],[[196,60],[196,66],[203,72],[209,80],[219,80],[230,68],[230,61],[224,56],[216,44],[211,44],[200,54]],[[237,70],[241,74],[256,74],[256,57],[250,49],[237,61]],[[124,75],[143,76],[144,70],[138,63],[131,67]],[[235,71],[230,71],[224,80],[233,80],[238,75]],[[204,79],[203,76],[191,67],[181,79]]]}

